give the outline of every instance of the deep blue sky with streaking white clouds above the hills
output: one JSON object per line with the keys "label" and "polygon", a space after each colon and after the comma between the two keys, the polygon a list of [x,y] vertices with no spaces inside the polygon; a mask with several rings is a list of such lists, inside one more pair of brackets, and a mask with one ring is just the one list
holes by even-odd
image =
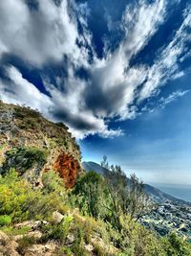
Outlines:
{"label": "deep blue sky with streaking white clouds above the hills", "polygon": [[84,160],[191,185],[191,1],[0,3],[0,98],[77,138]]}

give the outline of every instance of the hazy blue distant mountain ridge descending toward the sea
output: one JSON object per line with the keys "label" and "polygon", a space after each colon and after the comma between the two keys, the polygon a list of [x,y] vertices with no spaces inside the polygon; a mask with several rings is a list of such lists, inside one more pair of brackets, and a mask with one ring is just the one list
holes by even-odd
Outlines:
{"label": "hazy blue distant mountain ridge descending toward the sea", "polygon": [[[95,171],[99,175],[104,175],[104,172],[108,172],[109,170],[103,168],[101,165],[95,163],[95,162],[83,162],[83,168],[87,171]],[[127,177],[127,180],[129,181],[130,179]],[[184,200],[180,198],[175,198],[173,196],[170,196],[161,190],[149,185],[149,184],[144,184],[145,192],[146,194],[150,197],[153,198],[156,202],[159,203],[164,203],[165,201],[173,201],[173,202],[180,202],[180,203],[185,203]],[[186,202],[187,203],[187,202]]]}

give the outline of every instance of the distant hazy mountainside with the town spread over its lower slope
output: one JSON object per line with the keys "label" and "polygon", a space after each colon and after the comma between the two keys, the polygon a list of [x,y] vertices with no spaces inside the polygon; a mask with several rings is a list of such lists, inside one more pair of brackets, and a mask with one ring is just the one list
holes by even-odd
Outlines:
{"label": "distant hazy mountainside with the town spread over its lower slope", "polygon": [[[83,162],[84,169],[91,173],[95,171],[99,175],[108,175],[108,169],[95,162]],[[132,181],[126,177],[128,185]],[[158,205],[155,210],[142,215],[139,222],[150,230],[155,230],[159,235],[166,236],[176,231],[181,237],[191,241],[191,204],[179,198],[174,198],[159,189],[144,184],[144,191]]]}

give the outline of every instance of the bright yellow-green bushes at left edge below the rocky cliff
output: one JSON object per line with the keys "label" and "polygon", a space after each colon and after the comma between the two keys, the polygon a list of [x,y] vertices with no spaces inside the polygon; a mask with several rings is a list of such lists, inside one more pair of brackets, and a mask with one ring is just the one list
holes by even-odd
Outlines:
{"label": "bright yellow-green bushes at left edge below the rocky cliff", "polygon": [[0,215],[10,215],[13,222],[36,219],[36,216],[38,219],[50,218],[53,211],[62,212],[66,203],[57,191],[33,190],[15,170],[0,176],[0,195]]}

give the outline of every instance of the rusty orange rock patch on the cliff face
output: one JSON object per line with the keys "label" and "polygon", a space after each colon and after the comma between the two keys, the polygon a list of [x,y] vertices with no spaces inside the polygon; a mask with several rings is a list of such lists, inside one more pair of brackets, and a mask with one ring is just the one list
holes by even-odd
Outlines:
{"label": "rusty orange rock patch on the cliff face", "polygon": [[67,189],[74,187],[80,166],[73,155],[64,152],[60,153],[54,162],[53,169],[63,177]]}

